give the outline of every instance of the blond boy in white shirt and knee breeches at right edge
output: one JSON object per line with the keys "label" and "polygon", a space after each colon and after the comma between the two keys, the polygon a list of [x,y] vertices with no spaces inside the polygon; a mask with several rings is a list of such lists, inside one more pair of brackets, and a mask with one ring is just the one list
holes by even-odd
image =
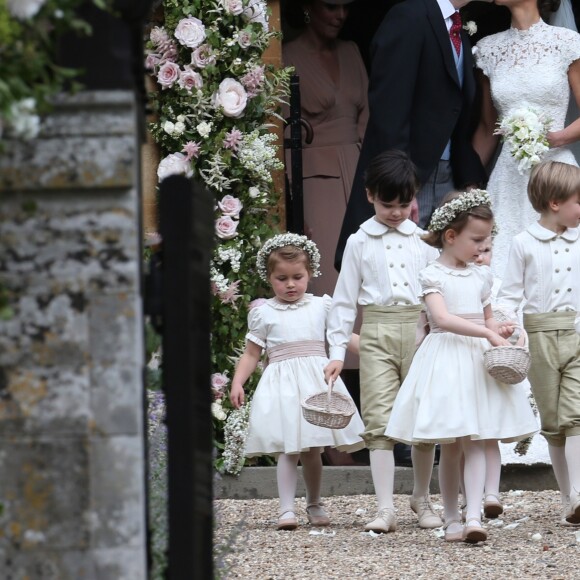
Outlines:
{"label": "blond boy in white shirt and knee breeches at right edge", "polygon": [[538,222],[514,237],[500,306],[523,301],[529,335],[529,380],[542,435],[562,496],[563,524],[580,524],[580,168],[557,161],[535,166],[528,197]]}

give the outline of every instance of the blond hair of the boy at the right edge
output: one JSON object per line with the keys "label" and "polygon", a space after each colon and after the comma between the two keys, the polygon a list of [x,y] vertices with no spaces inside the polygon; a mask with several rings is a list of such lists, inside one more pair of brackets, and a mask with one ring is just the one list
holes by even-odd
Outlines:
{"label": "blond hair of the boy at the right edge", "polygon": [[544,161],[532,169],[528,198],[539,213],[550,208],[551,201],[566,201],[580,193],[580,169],[560,161]]}

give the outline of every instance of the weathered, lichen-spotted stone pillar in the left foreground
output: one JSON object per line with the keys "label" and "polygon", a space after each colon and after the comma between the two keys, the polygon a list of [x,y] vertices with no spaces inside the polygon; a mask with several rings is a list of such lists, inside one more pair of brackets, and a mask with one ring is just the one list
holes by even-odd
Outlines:
{"label": "weathered, lichen-spotted stone pillar in the left foreground", "polygon": [[0,155],[0,578],[146,578],[136,135],[90,91]]}

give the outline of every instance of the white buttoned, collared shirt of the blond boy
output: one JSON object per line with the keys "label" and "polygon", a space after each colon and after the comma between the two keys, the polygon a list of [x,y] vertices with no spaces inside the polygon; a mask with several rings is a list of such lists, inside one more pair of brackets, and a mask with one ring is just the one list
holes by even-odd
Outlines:
{"label": "white buttoned, collared shirt of the blond boy", "polygon": [[524,314],[577,311],[580,306],[580,230],[557,234],[532,224],[514,237],[498,303]]}

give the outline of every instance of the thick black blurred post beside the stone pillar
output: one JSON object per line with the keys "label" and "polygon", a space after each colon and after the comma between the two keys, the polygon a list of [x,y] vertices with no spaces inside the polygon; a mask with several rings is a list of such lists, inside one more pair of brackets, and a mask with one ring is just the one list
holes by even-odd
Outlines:
{"label": "thick black blurred post beside the stone pillar", "polygon": [[210,281],[213,197],[161,183],[163,384],[167,401],[169,580],[213,577]]}

